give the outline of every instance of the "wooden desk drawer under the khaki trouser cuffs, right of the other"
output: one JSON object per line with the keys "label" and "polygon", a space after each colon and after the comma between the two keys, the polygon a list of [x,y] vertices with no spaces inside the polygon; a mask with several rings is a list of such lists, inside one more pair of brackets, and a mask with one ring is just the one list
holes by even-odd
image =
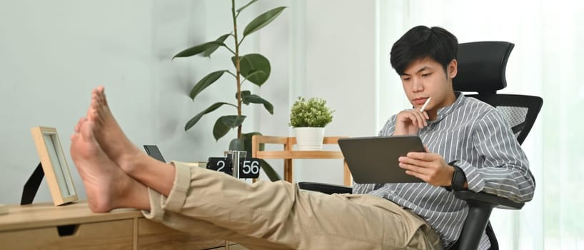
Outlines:
{"label": "wooden desk drawer under the khaki trouser cuffs, right of the other", "polygon": [[203,239],[168,228],[148,219],[138,219],[138,249],[213,249],[225,246],[220,239]]}

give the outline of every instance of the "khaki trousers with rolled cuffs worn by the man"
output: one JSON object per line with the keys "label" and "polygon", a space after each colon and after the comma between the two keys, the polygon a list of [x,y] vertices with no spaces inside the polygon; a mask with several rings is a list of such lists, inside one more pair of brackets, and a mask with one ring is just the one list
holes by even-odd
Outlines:
{"label": "khaki trousers with rolled cuffs worn by the man", "polygon": [[248,184],[173,162],[168,197],[149,189],[146,218],[249,249],[441,249],[423,219],[371,195],[301,191],[286,181]]}

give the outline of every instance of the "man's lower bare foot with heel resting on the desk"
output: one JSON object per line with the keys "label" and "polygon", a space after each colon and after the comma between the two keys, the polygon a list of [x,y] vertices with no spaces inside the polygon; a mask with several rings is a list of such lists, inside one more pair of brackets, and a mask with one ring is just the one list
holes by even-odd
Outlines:
{"label": "man's lower bare foot with heel resting on the desk", "polygon": [[121,207],[149,210],[148,189],[128,176],[101,150],[94,123],[80,119],[71,136],[71,158],[83,180],[89,209],[106,212]]}

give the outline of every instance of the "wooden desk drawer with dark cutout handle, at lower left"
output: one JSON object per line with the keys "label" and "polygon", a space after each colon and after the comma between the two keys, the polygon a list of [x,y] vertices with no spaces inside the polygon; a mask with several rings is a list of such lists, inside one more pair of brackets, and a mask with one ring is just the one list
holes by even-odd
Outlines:
{"label": "wooden desk drawer with dark cutout handle, at lower left", "polygon": [[133,219],[0,232],[2,249],[132,249]]}

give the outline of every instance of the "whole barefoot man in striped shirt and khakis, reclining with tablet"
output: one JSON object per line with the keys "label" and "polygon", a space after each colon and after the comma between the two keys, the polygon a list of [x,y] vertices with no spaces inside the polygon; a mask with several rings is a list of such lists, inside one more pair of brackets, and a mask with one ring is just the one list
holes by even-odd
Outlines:
{"label": "whole barefoot man in striped shirt and khakis, reclining with tablet", "polygon": [[[97,212],[142,209],[146,218],[173,229],[250,249],[450,246],[466,207],[444,186],[515,201],[533,196],[525,154],[500,115],[453,91],[457,46],[448,31],[418,26],[391,52],[414,109],[393,116],[380,134],[421,136],[428,152],[410,153],[400,165],[426,183],[356,184],[356,194],[329,196],[300,191],[285,181],[246,184],[216,171],[163,164],[126,138],[99,87],[71,136],[71,156],[89,207]],[[453,176],[459,176],[455,184]]]}

